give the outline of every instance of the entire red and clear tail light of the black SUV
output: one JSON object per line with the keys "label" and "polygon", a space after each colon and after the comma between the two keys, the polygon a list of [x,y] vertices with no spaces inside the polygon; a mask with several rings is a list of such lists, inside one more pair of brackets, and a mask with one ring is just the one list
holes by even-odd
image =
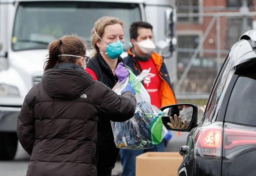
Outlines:
{"label": "entire red and clear tail light of the black SUV", "polygon": [[[223,130],[224,129],[224,130]],[[200,127],[194,135],[195,156],[232,160],[248,150],[256,150],[256,128],[214,122]]]}

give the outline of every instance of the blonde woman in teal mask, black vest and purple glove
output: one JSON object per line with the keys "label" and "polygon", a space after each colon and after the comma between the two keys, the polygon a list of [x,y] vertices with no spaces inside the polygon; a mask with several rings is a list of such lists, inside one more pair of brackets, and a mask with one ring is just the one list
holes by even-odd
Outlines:
{"label": "blonde woman in teal mask, black vest and purple glove", "polygon": [[[95,49],[86,67],[94,80],[106,84],[112,89],[129,75],[123,67],[124,22],[115,17],[102,17],[92,28],[92,46]],[[121,74],[116,75],[118,72]],[[109,119],[99,118],[97,139],[98,176],[111,176],[115,167],[119,149],[114,143],[114,136]]]}

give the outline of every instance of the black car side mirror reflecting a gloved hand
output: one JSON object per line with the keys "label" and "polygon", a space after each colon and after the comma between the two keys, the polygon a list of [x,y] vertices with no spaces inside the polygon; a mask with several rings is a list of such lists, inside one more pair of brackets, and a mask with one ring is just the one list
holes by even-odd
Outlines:
{"label": "black car side mirror reflecting a gloved hand", "polygon": [[162,121],[168,130],[190,131],[197,126],[198,108],[193,104],[176,104],[160,108]]}

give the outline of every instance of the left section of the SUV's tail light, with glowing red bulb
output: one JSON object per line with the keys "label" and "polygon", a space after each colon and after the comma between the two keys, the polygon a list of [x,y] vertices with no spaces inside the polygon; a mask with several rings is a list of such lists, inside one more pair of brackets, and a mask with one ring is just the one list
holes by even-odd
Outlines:
{"label": "left section of the SUV's tail light, with glowing red bulb", "polygon": [[194,137],[196,157],[221,158],[222,126],[222,122],[214,122],[197,130]]}

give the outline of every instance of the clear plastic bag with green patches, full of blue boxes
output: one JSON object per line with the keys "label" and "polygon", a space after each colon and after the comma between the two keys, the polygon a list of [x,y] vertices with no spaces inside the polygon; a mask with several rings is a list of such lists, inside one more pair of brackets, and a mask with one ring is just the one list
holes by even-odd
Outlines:
{"label": "clear plastic bag with green patches, full of blue boxes", "polygon": [[167,134],[167,129],[162,123],[163,112],[156,106],[151,105],[150,96],[142,85],[149,73],[143,70],[137,77],[132,73],[124,79],[115,92],[121,91],[127,84],[131,84],[136,92],[137,106],[134,116],[125,122],[113,122],[111,126],[114,134],[114,141],[117,148],[126,149],[148,149],[159,144]]}

